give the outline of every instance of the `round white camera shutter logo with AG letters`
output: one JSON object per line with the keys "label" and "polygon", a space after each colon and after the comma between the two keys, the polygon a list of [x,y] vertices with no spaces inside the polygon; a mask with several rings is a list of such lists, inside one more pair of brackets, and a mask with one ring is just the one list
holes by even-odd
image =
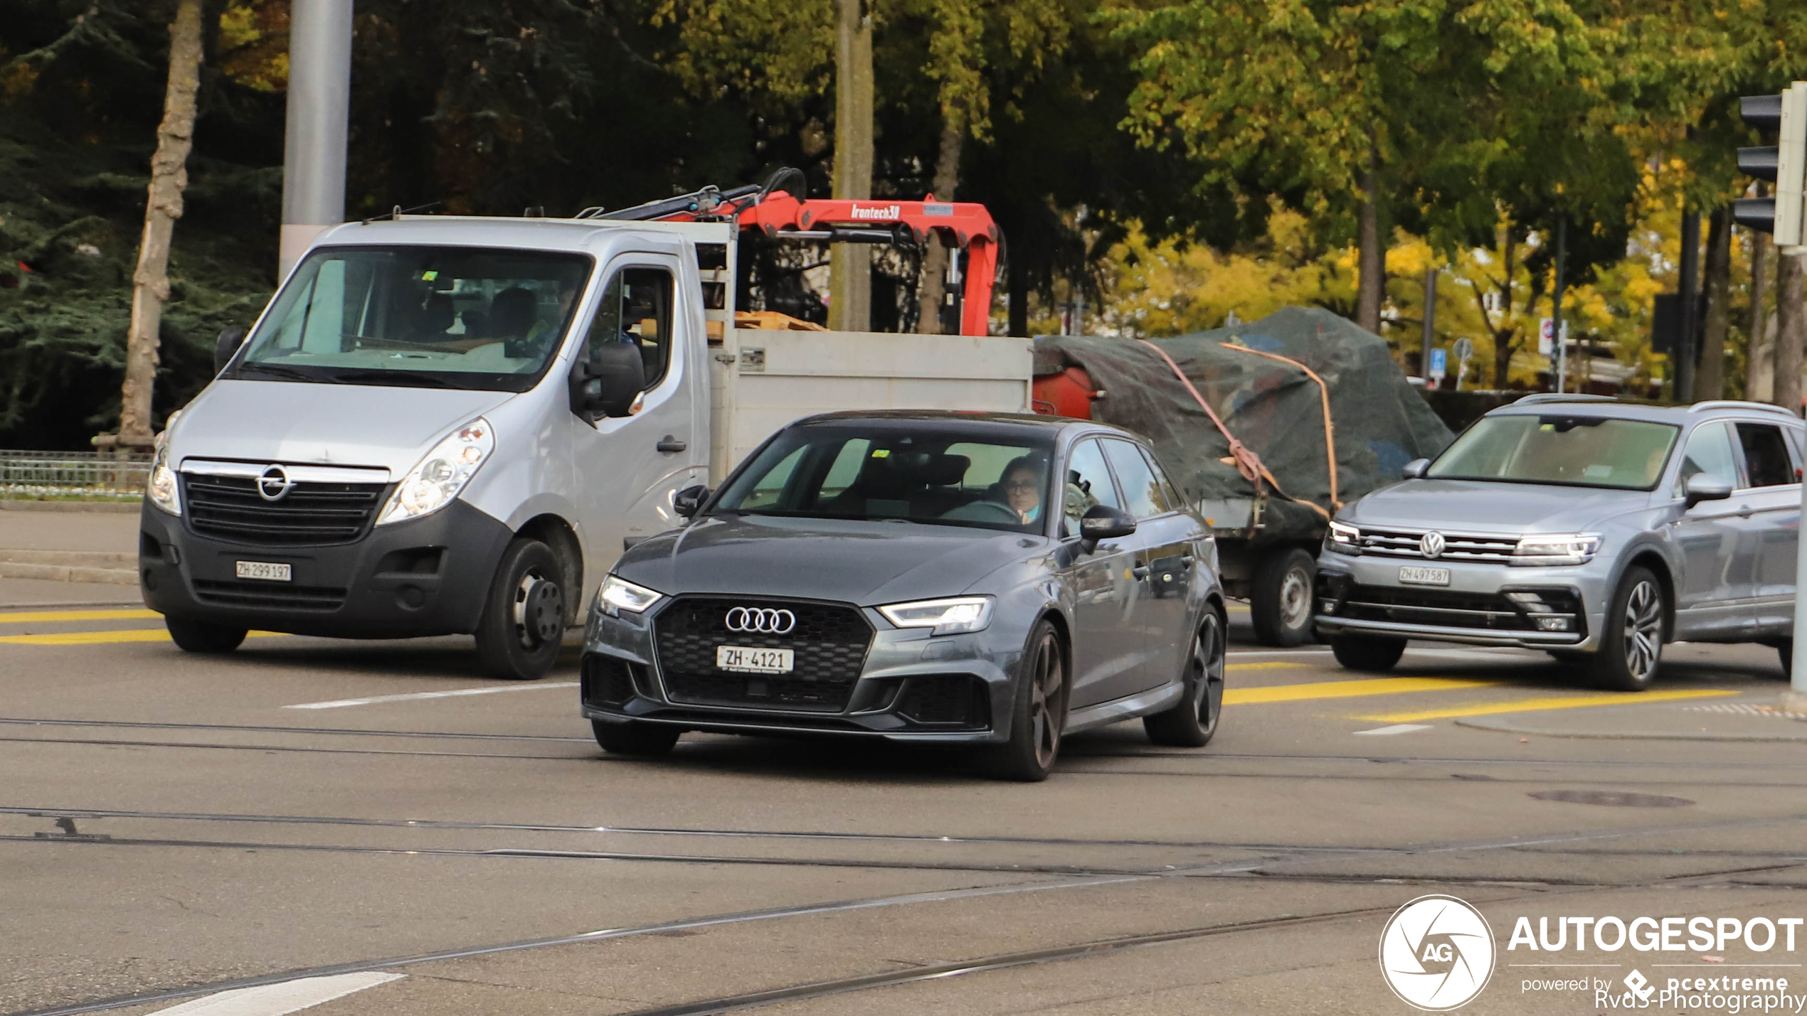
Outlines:
{"label": "round white camera shutter logo with AG letters", "polygon": [[1418,897],[1381,931],[1381,976],[1413,1009],[1447,1012],[1475,1000],[1493,976],[1493,929],[1456,897]]}

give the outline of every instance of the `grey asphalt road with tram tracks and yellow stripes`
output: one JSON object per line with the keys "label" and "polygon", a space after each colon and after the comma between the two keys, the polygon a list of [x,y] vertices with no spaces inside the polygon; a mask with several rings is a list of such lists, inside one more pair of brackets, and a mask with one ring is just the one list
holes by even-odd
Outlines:
{"label": "grey asphalt road with tram tracks and yellow stripes", "polygon": [[840,742],[605,758],[575,653],[499,684],[459,639],[193,657],[128,605],[5,610],[0,1012],[1409,1012],[1377,944],[1428,893],[1498,940],[1464,1012],[1592,1012],[1525,991],[1556,958],[1807,985],[1807,935],[1505,949],[1521,915],[1807,913],[1807,745],[1464,725],[1706,724],[1774,698],[1773,651],[1671,646],[1626,707],[1538,653],[1368,679],[1240,633],[1209,747],[1124,724],[1010,785]]}

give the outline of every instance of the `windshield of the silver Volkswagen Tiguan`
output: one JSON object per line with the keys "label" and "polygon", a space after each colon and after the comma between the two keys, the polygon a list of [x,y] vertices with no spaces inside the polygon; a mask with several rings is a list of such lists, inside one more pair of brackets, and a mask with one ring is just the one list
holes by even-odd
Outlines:
{"label": "windshield of the silver Volkswagen Tiguan", "polygon": [[1437,457],[1428,476],[1650,491],[1679,428],[1563,415],[1482,417]]}

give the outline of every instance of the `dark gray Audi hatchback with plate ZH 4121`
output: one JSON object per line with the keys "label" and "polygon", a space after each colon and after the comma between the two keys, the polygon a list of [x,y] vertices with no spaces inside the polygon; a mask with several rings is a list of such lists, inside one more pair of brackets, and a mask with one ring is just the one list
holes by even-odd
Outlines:
{"label": "dark gray Audi hatchback with plate ZH 4121", "polygon": [[1064,734],[1223,706],[1211,529],[1147,446],[1032,415],[828,413],[772,435],[636,543],[584,639],[611,753],[683,731],[974,745],[1043,780]]}

